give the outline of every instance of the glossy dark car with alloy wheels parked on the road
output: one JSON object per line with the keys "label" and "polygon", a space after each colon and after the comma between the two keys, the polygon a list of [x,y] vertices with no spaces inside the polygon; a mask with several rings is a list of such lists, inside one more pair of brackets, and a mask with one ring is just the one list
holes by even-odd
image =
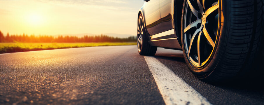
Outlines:
{"label": "glossy dark car with alloy wheels parked on the road", "polygon": [[[137,50],[182,50],[190,72],[208,81],[246,77],[263,59],[263,0],[144,0]],[[263,64],[262,64],[263,66]]]}

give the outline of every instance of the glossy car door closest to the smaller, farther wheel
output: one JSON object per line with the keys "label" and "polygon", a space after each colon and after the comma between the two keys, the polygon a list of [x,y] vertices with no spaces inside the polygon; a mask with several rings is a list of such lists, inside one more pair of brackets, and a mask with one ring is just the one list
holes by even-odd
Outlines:
{"label": "glossy car door closest to the smaller, farther wheel", "polygon": [[159,28],[160,21],[160,0],[150,0],[145,6],[146,29],[150,36],[162,32]]}

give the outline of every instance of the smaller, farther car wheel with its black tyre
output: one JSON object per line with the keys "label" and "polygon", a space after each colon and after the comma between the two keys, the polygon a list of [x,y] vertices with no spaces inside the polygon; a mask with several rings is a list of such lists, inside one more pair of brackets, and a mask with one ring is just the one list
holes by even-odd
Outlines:
{"label": "smaller, farther car wheel with its black tyre", "polygon": [[137,22],[137,49],[140,55],[155,55],[157,47],[148,43],[148,36],[144,28],[144,20],[142,14],[139,15]]}

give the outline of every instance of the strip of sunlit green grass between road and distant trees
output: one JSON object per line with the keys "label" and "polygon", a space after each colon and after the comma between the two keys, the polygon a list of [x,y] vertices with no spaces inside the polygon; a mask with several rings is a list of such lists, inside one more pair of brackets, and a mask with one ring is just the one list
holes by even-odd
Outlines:
{"label": "strip of sunlit green grass between road and distant trees", "polygon": [[92,46],[120,46],[137,45],[136,42],[124,43],[0,43],[0,53],[13,53],[22,51],[50,50],[61,48],[78,48]]}

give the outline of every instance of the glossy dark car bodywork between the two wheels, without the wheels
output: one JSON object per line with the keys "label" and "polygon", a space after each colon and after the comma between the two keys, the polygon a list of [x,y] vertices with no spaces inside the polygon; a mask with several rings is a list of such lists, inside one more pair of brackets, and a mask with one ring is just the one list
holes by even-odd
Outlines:
{"label": "glossy dark car bodywork between the two wheels, without the wheels", "polygon": [[[149,0],[139,9],[152,46],[182,49],[179,43],[183,1]],[[176,11],[176,12],[174,12]]]}

